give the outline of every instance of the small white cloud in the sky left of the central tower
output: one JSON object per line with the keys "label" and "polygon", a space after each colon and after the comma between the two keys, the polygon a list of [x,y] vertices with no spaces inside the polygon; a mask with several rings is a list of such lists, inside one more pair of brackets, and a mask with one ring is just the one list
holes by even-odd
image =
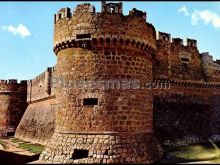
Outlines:
{"label": "small white cloud in the sky left of the central tower", "polygon": [[22,24],[19,24],[17,27],[15,27],[13,25],[2,26],[2,30],[7,30],[8,32],[10,32],[14,35],[19,35],[22,38],[28,37],[31,35],[31,32],[28,30],[28,28]]}

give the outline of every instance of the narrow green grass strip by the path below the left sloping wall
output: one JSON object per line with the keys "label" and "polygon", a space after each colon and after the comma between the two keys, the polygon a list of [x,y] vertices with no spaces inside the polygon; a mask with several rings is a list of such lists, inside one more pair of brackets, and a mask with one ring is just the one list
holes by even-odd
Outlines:
{"label": "narrow green grass strip by the path below the left sloping wall", "polygon": [[27,151],[34,153],[34,154],[40,154],[44,149],[44,146],[42,146],[40,144],[32,144],[32,143],[25,142],[25,141],[18,139],[18,138],[12,138],[11,141],[13,143],[17,143],[19,145],[19,148],[25,149]]}

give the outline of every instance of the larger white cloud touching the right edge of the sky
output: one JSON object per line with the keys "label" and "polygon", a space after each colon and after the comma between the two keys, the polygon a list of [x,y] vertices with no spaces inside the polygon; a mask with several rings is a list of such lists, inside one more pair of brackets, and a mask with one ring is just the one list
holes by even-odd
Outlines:
{"label": "larger white cloud touching the right edge of the sky", "polygon": [[220,15],[210,10],[195,10],[191,16],[192,25],[197,25],[202,21],[205,25],[212,24],[215,28],[220,28]]}

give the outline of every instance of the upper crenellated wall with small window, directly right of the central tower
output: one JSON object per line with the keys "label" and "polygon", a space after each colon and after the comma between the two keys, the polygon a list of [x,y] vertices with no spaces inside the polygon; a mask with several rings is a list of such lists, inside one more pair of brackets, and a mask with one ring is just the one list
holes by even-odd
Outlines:
{"label": "upper crenellated wall with small window, directly right of the central tower", "polygon": [[154,57],[154,77],[204,81],[202,58],[196,41],[173,38],[170,34],[158,34],[157,51]]}

